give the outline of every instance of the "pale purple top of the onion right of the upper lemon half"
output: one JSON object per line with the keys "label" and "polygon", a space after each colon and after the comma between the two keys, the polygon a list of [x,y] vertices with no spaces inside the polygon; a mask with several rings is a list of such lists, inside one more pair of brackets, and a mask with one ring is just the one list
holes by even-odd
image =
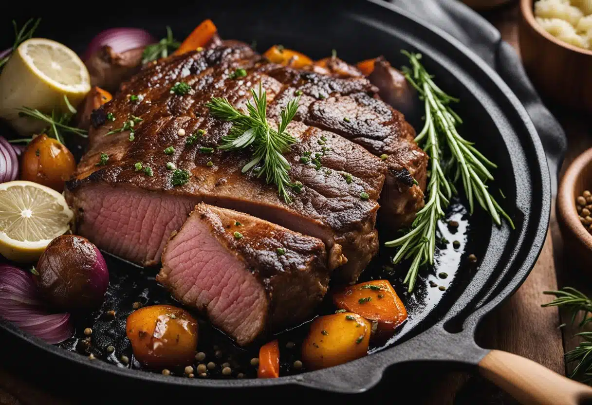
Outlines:
{"label": "pale purple top of the onion right of the upper lemon half", "polygon": [[105,45],[110,46],[113,52],[121,53],[130,49],[142,48],[155,42],[156,38],[141,28],[110,28],[102,31],[92,39],[82,59],[89,59],[93,53]]}

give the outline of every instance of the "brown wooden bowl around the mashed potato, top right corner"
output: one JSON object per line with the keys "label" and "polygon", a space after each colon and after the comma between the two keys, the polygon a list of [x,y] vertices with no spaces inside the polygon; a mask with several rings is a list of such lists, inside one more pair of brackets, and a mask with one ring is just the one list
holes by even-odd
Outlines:
{"label": "brown wooden bowl around the mashed potato, top right corner", "polygon": [[592,51],[558,40],[536,22],[533,0],[520,0],[522,62],[540,95],[557,104],[592,111]]}

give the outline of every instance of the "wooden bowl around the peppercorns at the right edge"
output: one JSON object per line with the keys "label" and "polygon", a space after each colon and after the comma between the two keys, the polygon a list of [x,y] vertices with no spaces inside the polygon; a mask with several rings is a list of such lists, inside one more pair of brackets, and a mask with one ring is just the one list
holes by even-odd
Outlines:
{"label": "wooden bowl around the peppercorns at the right edge", "polygon": [[575,159],[565,172],[557,192],[556,213],[565,250],[570,261],[592,265],[592,235],[580,222],[575,199],[592,190],[592,148]]}

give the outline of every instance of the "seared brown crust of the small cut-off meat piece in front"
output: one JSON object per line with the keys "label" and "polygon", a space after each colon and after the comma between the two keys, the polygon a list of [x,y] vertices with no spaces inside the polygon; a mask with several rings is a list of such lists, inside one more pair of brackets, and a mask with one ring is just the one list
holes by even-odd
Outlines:
{"label": "seared brown crust of the small cut-off meat piece in front", "polygon": [[[247,271],[255,275],[262,285],[268,299],[267,332],[277,332],[304,322],[323,300],[330,271],[320,239],[292,232],[248,214],[203,203],[195,207],[183,227],[192,226],[195,216],[208,225],[211,235],[230,255],[243,262]],[[240,224],[237,225],[236,221]],[[239,232],[240,238],[234,236],[234,232]],[[169,243],[174,238],[172,236]],[[278,249],[282,249],[281,254],[278,254]],[[163,258],[166,258],[164,253]],[[168,282],[168,272],[170,268],[163,259],[163,269],[156,277],[157,281],[182,303],[195,306],[194,301],[187,300],[188,294],[176,294]]]}

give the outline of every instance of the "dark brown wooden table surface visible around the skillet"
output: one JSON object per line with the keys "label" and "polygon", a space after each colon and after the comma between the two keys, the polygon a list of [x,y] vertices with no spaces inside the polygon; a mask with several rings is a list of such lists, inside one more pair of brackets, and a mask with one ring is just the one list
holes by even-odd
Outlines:
{"label": "dark brown wooden table surface visible around the skillet", "polygon": [[[484,14],[501,31],[504,40],[518,49],[517,4],[511,4]],[[558,118],[569,140],[569,149],[562,172],[581,152],[592,147],[592,124],[584,117],[556,110],[549,104]],[[542,253],[535,268],[525,283],[509,300],[493,311],[478,330],[478,343],[485,348],[495,348],[530,358],[556,372],[565,374],[563,359],[565,349],[577,345],[572,339],[574,331],[568,325],[562,329],[559,324],[570,323],[567,314],[559,314],[556,308],[542,308],[541,304],[551,298],[542,294],[544,290],[556,290],[559,285],[574,285],[585,293],[592,293],[592,287],[584,288],[588,279],[578,269],[564,268],[561,236],[552,208],[551,226]],[[65,404],[66,402],[48,396],[31,382],[25,382],[2,369],[0,357],[0,404]],[[434,381],[434,380],[432,380]],[[439,375],[437,383],[430,383],[431,389],[412,390],[415,403],[425,404],[514,404],[512,398],[478,375],[449,372]]]}

